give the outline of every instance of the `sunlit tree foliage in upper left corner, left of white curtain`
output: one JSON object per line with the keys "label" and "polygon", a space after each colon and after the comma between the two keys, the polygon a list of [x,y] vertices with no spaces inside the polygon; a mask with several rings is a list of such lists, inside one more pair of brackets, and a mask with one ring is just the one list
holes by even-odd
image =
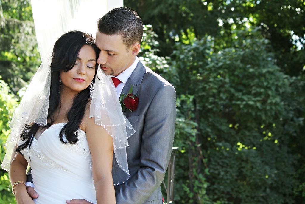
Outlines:
{"label": "sunlit tree foliage in upper left corner, left of white curtain", "polygon": [[30,1],[1,1],[0,45],[0,75],[16,93],[41,63]]}

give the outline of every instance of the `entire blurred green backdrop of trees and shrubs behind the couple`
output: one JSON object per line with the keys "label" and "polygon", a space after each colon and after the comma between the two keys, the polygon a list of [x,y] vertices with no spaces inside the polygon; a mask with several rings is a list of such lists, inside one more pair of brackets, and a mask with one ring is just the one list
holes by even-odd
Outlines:
{"label": "entire blurred green backdrop of trees and shrubs behind the couple", "polygon": [[[145,24],[141,60],[177,91],[175,203],[305,203],[305,1],[124,5]],[[1,0],[1,161],[39,64],[29,0]],[[15,203],[0,176],[0,204]]]}

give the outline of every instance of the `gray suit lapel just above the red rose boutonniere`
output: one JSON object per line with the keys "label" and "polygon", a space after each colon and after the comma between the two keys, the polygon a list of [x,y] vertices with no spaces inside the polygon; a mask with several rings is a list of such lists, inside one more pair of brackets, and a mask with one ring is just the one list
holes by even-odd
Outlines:
{"label": "gray suit lapel just above the red rose boutonniere", "polygon": [[[130,77],[127,79],[126,84],[124,85],[122,89],[122,93],[127,94],[130,87],[132,86],[132,95],[136,95],[138,92],[138,85],[142,83],[142,79],[145,75],[145,67],[142,64],[142,62],[139,60],[137,66],[135,67],[135,70],[131,73]],[[126,111],[127,109],[125,109]],[[125,112],[124,111],[124,112]]]}

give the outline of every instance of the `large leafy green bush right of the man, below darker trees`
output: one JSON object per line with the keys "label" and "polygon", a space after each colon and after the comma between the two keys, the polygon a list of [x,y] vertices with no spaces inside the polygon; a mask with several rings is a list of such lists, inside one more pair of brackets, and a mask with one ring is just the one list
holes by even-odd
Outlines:
{"label": "large leafy green bush right of the man, below darker trees", "polygon": [[178,42],[163,61],[145,32],[142,59],[177,90],[175,201],[301,203],[304,77],[281,71],[259,28],[232,31],[226,48]]}

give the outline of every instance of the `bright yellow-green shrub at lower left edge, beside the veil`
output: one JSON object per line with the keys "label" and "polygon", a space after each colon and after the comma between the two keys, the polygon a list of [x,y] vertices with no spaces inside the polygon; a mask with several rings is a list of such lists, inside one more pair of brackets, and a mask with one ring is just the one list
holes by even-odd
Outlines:
{"label": "bright yellow-green shrub at lower left edge, beside the veil", "polygon": [[[1,80],[0,76],[0,154],[1,163],[5,155],[4,144],[9,136],[9,121],[13,116],[13,111],[17,106],[13,94],[10,93],[7,84]],[[11,191],[12,187],[9,181],[8,173],[4,170],[0,171],[0,203],[16,203],[15,196]]]}

